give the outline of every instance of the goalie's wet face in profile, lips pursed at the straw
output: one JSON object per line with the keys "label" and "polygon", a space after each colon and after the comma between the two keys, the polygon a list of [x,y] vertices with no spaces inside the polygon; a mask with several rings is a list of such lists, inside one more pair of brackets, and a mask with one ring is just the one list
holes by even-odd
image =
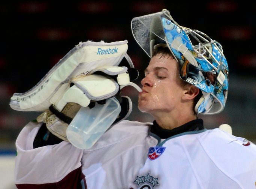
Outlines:
{"label": "goalie's wet face in profile, lips pursed at the straw", "polygon": [[178,62],[168,55],[157,54],[151,58],[141,83],[139,110],[142,112],[169,113],[182,101],[184,86],[179,78]]}

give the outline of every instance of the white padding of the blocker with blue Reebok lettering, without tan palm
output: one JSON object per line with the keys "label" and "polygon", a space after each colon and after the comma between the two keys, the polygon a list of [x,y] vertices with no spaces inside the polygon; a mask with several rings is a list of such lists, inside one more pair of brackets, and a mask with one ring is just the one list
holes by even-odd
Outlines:
{"label": "white padding of the blocker with blue Reebok lettering, without tan palm", "polygon": [[[127,43],[127,40],[112,43],[80,42],[36,86],[25,93],[14,93],[11,108],[18,111],[45,111],[54,104],[62,111],[68,102],[86,107],[90,100],[100,101],[114,96],[119,91],[119,85],[130,84],[127,67],[118,67],[123,57],[128,60],[129,69],[134,69],[126,54]],[[118,75],[117,82],[111,77],[93,75],[96,71],[104,72],[105,75]]]}

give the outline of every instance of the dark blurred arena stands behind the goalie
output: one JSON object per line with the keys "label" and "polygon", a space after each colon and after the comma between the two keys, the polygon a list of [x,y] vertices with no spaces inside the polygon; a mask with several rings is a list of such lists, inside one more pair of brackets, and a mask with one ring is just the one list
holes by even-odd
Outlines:
{"label": "dark blurred arena stands behind the goalie", "polygon": [[[140,76],[149,58],[133,39],[133,17],[170,10],[181,26],[200,30],[221,43],[229,64],[229,94],[224,111],[199,116],[205,127],[232,126],[233,135],[256,143],[256,3],[238,1],[23,1],[0,3],[0,188],[15,188],[15,139],[40,112],[19,112],[9,107],[13,93],[23,93],[79,42],[128,40],[128,54]],[[137,109],[137,92],[126,87],[133,100],[128,120],[152,121]]]}

